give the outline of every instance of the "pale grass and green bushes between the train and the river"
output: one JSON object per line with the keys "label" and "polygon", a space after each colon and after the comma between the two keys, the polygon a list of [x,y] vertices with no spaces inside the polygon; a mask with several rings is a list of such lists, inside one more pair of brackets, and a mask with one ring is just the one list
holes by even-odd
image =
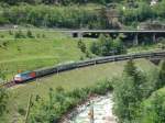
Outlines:
{"label": "pale grass and green bushes between the train and the river", "polygon": [[[107,87],[105,86],[108,86],[103,81],[108,81],[113,76],[120,77],[123,70],[123,65],[125,65],[125,63],[120,62],[120,63],[111,63],[107,65],[92,66],[89,68],[81,68],[81,69],[68,71],[68,72],[63,72],[63,74],[59,74],[58,76],[55,75],[53,77],[43,78],[41,80],[36,80],[35,82],[33,81],[30,83],[25,83],[24,86],[20,86],[11,90],[11,92],[13,93],[11,100],[12,100],[12,103],[18,103],[16,105],[19,107],[19,109],[16,108],[18,112],[20,112],[21,114],[24,114],[22,112],[24,112],[23,109],[25,109],[28,105],[28,97],[30,93],[33,93],[34,105],[32,107],[33,110],[31,110],[32,111],[31,118],[29,118],[29,120],[30,121],[34,120],[35,122],[37,120],[38,122],[41,120],[44,120],[44,121],[57,120],[66,111],[68,111],[68,109],[72,109],[78,102],[86,99],[86,97],[88,96],[86,94],[86,91],[85,91],[86,89],[81,90],[80,88],[91,88],[89,89],[90,92],[103,94],[107,91],[106,89]],[[139,66],[141,69],[143,69],[146,72],[150,71],[150,69],[155,68],[152,64],[150,64],[150,62],[146,62],[146,60],[136,60],[136,66]],[[99,76],[99,75],[102,75],[102,76]],[[68,85],[68,81],[72,81],[72,82],[69,82]],[[102,81],[102,82],[97,86],[98,81],[100,82]],[[112,79],[112,81],[117,82],[114,79]],[[57,89],[58,92],[57,92],[57,91],[54,91],[56,87],[62,87],[64,89],[58,88]],[[75,98],[75,97],[78,97],[78,98]],[[52,108],[50,105],[52,105]],[[13,111],[13,109],[15,108],[12,105],[12,108],[10,109],[12,114],[10,114],[10,116],[16,112],[15,110]],[[53,109],[56,109],[56,110],[53,110]],[[19,120],[21,118],[24,119],[24,115],[21,115],[21,114],[19,116]],[[8,115],[8,119],[10,116]]]}

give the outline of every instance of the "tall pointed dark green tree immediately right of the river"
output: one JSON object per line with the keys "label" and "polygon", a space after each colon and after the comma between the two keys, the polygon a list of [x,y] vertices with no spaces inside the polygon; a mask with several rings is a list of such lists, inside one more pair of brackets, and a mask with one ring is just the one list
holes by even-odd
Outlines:
{"label": "tall pointed dark green tree immediately right of the river", "polygon": [[133,60],[124,67],[121,79],[114,87],[114,113],[120,122],[134,122],[139,116],[141,101],[144,98],[143,83],[145,77],[138,70]]}

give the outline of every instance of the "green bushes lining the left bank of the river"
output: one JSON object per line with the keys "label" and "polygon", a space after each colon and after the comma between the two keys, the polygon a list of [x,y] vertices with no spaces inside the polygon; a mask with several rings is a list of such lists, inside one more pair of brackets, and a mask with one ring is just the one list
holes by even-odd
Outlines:
{"label": "green bushes lining the left bank of the river", "polygon": [[34,102],[30,122],[45,123],[58,121],[64,113],[85,101],[88,96],[94,93],[106,94],[110,90],[112,90],[110,81],[100,82],[91,88],[75,89],[70,92],[64,91],[63,88],[50,89],[48,101],[40,99]]}

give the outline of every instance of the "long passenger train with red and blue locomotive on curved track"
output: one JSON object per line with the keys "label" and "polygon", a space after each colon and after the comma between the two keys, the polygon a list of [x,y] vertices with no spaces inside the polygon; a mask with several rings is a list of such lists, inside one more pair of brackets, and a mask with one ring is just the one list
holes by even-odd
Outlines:
{"label": "long passenger train with red and blue locomotive on curved track", "polygon": [[118,56],[107,56],[107,57],[98,57],[94,59],[88,59],[84,62],[77,63],[68,63],[64,65],[57,65],[48,68],[42,68],[32,71],[20,72],[14,76],[13,80],[15,83],[22,83],[24,81],[29,81],[31,79],[40,78],[51,74],[57,74],[75,68],[91,66],[96,64],[105,64],[110,62],[119,62],[119,60],[127,60],[127,59],[138,59],[138,58],[151,58],[151,57],[165,57],[165,52],[157,52],[157,53],[141,53],[134,55],[118,55]]}

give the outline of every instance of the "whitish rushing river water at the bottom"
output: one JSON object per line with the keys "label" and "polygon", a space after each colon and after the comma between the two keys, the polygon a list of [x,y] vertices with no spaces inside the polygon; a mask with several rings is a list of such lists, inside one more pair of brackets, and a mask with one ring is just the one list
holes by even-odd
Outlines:
{"label": "whitish rushing river water at the bottom", "polygon": [[[63,123],[117,123],[116,116],[112,114],[112,94],[105,97],[97,97],[87,102],[84,105],[77,108],[76,113],[69,119],[66,119]],[[94,112],[92,116],[89,116],[89,112]],[[94,122],[91,122],[94,120]]]}

